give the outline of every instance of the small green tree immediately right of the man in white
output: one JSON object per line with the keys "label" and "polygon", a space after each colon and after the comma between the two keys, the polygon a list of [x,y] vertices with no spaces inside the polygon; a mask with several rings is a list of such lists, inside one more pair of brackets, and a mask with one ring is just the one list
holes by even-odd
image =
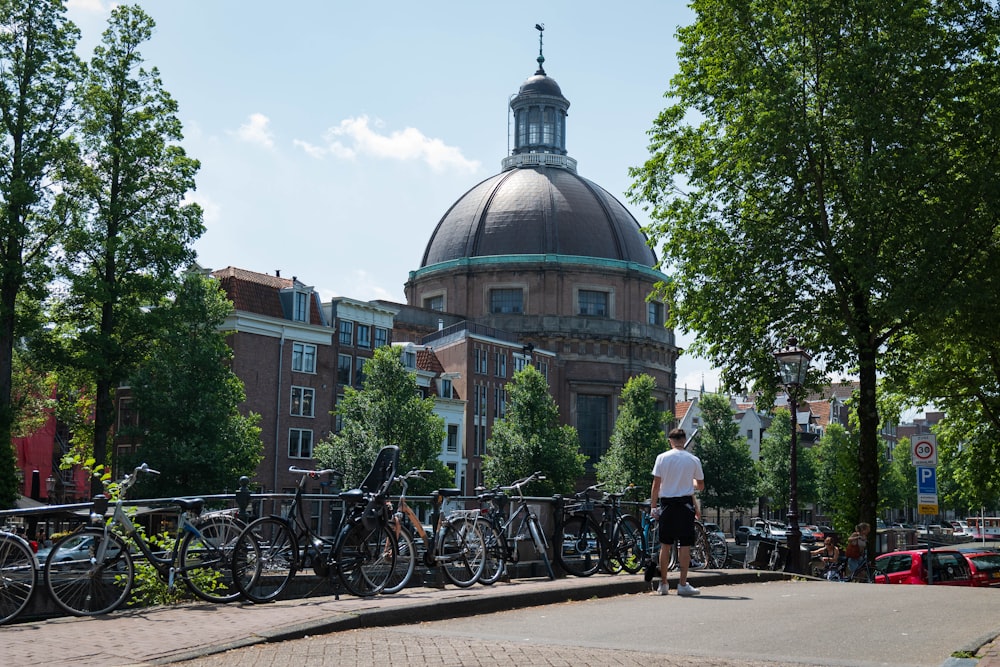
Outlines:
{"label": "small green tree immediately right of the man in white", "polygon": [[756,500],[757,473],[746,438],[734,420],[729,401],[719,394],[702,394],[701,430],[692,451],[701,459],[705,473],[703,507],[714,507],[716,518],[723,508],[752,506]]}

